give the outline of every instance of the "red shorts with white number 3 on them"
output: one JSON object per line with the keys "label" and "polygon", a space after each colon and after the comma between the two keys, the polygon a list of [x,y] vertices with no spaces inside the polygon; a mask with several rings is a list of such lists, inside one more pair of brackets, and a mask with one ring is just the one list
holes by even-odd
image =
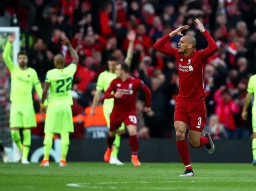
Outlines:
{"label": "red shorts with white number 3 on them", "polygon": [[180,120],[190,126],[191,131],[202,132],[206,123],[206,106],[204,98],[186,100],[176,98],[174,122]]}

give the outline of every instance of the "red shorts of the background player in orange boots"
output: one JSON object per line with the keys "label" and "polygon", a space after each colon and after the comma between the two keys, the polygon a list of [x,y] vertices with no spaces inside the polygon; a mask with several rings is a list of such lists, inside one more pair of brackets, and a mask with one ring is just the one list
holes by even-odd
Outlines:
{"label": "red shorts of the background player in orange boots", "polygon": [[127,112],[127,113],[115,113],[112,112],[110,114],[110,128],[109,131],[116,131],[124,123],[127,125],[138,125],[136,113],[135,112]]}

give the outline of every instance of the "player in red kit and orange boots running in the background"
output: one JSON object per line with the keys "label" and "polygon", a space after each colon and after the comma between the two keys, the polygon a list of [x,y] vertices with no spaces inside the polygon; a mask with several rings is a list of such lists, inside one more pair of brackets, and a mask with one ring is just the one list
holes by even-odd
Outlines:
{"label": "player in red kit and orange boots running in the background", "polygon": [[[145,93],[146,106],[144,111],[150,114],[151,111],[151,92],[140,79],[133,78],[129,74],[130,67],[126,63],[119,63],[115,68],[117,78],[115,78],[104,94],[105,99],[114,98],[113,110],[110,114],[110,126],[107,136],[108,148],[105,152],[105,160],[109,160],[113,151],[113,142],[115,134],[121,123],[124,123],[129,131],[129,144],[131,147],[131,161],[138,167],[141,163],[138,160],[138,136],[137,136],[137,118],[136,118],[136,99],[139,90]],[[111,94],[113,92],[113,94]]]}

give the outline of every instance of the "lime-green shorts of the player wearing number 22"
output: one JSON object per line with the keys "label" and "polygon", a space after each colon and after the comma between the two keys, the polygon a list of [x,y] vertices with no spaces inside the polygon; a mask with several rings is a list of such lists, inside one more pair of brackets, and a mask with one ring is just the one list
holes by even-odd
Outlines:
{"label": "lime-green shorts of the player wearing number 22", "polygon": [[44,132],[74,132],[71,105],[48,104]]}

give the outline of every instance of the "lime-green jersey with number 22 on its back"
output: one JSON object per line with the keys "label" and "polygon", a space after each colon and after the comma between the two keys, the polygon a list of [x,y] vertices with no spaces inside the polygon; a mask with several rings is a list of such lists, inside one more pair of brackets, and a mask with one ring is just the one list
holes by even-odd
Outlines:
{"label": "lime-green jersey with number 22 on its back", "polygon": [[72,105],[71,88],[76,64],[71,63],[64,69],[51,69],[46,74],[46,82],[51,83],[48,104]]}

